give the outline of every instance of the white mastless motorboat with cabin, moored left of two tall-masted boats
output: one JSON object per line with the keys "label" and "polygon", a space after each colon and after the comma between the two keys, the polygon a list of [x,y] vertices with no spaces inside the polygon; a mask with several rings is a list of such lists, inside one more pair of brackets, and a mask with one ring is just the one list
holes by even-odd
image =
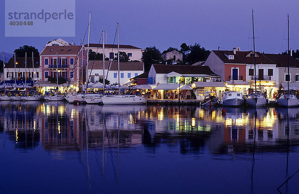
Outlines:
{"label": "white mastless motorboat with cabin, moored left of two tall-masted boats", "polygon": [[223,106],[241,106],[244,103],[242,93],[236,91],[225,92],[222,96]]}

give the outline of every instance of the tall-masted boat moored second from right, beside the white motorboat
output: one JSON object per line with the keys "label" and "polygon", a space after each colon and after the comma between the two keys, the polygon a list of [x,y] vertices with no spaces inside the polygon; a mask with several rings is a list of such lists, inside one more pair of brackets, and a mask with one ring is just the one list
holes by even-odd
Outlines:
{"label": "tall-masted boat moored second from right, beside the white motorboat", "polygon": [[268,103],[268,99],[264,96],[264,93],[262,92],[262,90],[257,90],[253,10],[252,10],[252,28],[253,28],[253,54],[254,54],[254,84],[255,84],[255,90],[249,90],[248,98],[245,99],[245,102],[248,106],[260,107],[260,106],[265,106]]}

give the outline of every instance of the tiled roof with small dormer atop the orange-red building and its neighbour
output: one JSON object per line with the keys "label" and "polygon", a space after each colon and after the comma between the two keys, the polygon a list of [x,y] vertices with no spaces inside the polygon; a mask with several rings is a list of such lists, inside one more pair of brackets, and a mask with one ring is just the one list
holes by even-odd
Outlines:
{"label": "tiled roof with small dormer atop the orange-red building and its neighbour", "polygon": [[[253,51],[212,51],[214,52],[224,63],[228,64],[254,64],[254,57],[248,57]],[[267,58],[260,52],[255,52],[258,57],[255,57],[256,64],[275,64],[272,60]],[[233,55],[234,59],[228,59],[227,56]]]}

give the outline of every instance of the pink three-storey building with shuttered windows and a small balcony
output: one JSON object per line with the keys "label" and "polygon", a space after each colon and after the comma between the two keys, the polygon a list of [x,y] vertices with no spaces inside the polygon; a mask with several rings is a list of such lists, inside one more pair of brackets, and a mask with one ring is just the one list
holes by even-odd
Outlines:
{"label": "pink three-storey building with shuttered windows and a small balcony", "polygon": [[[84,46],[46,46],[39,55],[41,82],[48,82],[48,77],[57,78],[58,74],[58,78],[64,78],[66,81],[64,87],[71,79],[70,83],[78,90],[82,83],[82,70],[85,82],[87,53]],[[57,87],[57,84],[52,85]],[[48,86],[51,87],[49,84]]]}

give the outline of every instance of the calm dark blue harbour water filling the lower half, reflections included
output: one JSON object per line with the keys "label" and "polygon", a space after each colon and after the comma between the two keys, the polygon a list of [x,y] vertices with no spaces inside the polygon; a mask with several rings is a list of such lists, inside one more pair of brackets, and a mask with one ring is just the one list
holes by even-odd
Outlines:
{"label": "calm dark blue harbour water filling the lower half, reflections included", "polygon": [[0,102],[0,193],[299,193],[299,108]]}

